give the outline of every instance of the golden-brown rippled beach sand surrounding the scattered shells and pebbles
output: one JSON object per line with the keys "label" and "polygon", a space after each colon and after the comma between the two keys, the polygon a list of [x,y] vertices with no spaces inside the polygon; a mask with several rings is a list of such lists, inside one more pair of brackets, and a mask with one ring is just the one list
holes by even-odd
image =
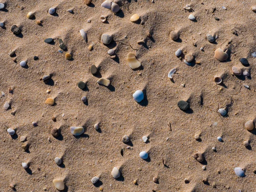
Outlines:
{"label": "golden-brown rippled beach sand surrounding the scattered shells and pebbles", "polygon": [[[97,192],[100,187],[105,192],[256,191],[256,132],[244,129],[244,123],[256,117],[256,58],[251,56],[256,51],[256,13],[250,10],[254,0],[120,0],[121,11],[116,15],[100,6],[102,0],[93,0],[89,6],[82,0],[5,2],[6,9],[0,10],[0,21],[5,21],[5,27],[0,28],[0,91],[6,96],[1,96],[0,103],[3,106],[8,101],[11,106],[0,110],[1,192],[12,192],[9,184],[14,184],[17,192],[54,192],[55,178],[64,179],[68,192]],[[183,9],[188,3],[195,22]],[[49,15],[50,7],[56,7],[57,14]],[[67,12],[70,8],[73,14]],[[35,12],[35,18],[26,18],[28,12]],[[135,13],[144,25],[130,21]],[[108,23],[99,20],[101,15],[108,17]],[[42,26],[36,20],[41,20]],[[21,27],[22,35],[14,35],[12,25]],[[87,32],[88,42],[81,38],[80,29]],[[177,42],[169,38],[172,30],[180,34]],[[146,37],[147,31],[152,38]],[[103,33],[113,37],[108,46],[100,42]],[[207,34],[218,35],[214,44],[205,39]],[[44,43],[46,38],[53,38],[55,44]],[[65,59],[66,52],[58,52],[59,38],[73,60]],[[136,43],[141,39],[145,39],[145,46]],[[216,60],[215,49],[228,42],[230,58]],[[87,49],[90,44],[92,51]],[[117,55],[114,60],[107,54],[113,47]],[[175,56],[178,48],[184,54],[193,54],[201,64],[184,64]],[[8,55],[10,49],[15,50],[17,63]],[[131,70],[126,61],[129,52],[136,54],[142,68]],[[39,60],[33,60],[35,55]],[[250,66],[244,67],[240,58],[247,58]],[[19,65],[23,60],[27,61],[25,68]],[[89,72],[92,64],[100,68],[98,76]],[[233,76],[234,65],[250,69],[251,79]],[[172,68],[177,68],[174,82],[167,77]],[[49,74],[50,83],[39,80]],[[224,84],[216,85],[215,75],[222,76]],[[97,84],[100,76],[110,79],[111,86]],[[87,83],[84,91],[77,87],[81,80]],[[51,89],[49,94],[47,89]],[[132,97],[136,90],[145,93],[140,104]],[[86,105],[81,102],[82,96],[87,96]],[[55,105],[46,105],[47,98],[55,99]],[[188,113],[177,107],[179,100],[189,101]],[[228,106],[226,117],[217,113],[218,104]],[[56,116],[56,122],[52,116]],[[33,127],[33,121],[38,122],[37,127]],[[100,131],[93,128],[97,122]],[[215,122],[217,125],[213,125]],[[9,136],[6,126],[16,129],[14,137]],[[86,131],[74,137],[70,126],[84,126]],[[50,134],[54,127],[61,130],[57,139]],[[201,134],[201,141],[194,139],[195,134]],[[129,145],[122,143],[124,135],[130,137]],[[144,135],[148,143],[141,140]],[[27,137],[28,151],[23,151],[20,136]],[[217,140],[218,136],[223,142]],[[249,147],[244,147],[244,140],[250,141]],[[139,157],[140,151],[148,152],[147,161]],[[192,157],[196,151],[204,154],[203,163]],[[61,157],[63,165],[57,166],[55,157]],[[23,162],[29,163],[28,170],[22,168]],[[117,180],[111,176],[114,166],[122,173]],[[237,166],[246,170],[245,177],[235,175]],[[94,176],[100,177],[95,186],[90,182]],[[159,183],[154,183],[153,177],[158,177]],[[190,183],[186,184],[185,178]],[[204,184],[206,178],[208,183]],[[138,185],[134,185],[134,179]]]}

